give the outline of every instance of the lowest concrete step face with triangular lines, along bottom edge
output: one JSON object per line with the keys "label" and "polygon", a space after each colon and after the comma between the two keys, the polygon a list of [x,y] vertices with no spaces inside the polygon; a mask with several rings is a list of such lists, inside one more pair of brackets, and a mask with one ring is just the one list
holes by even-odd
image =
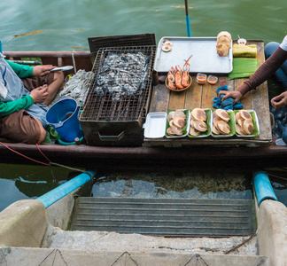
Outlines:
{"label": "lowest concrete step face with triangular lines, along bottom edge", "polygon": [[2,247],[1,266],[222,266],[222,265],[268,265],[264,256],[223,254],[164,254],[142,252],[79,251],[51,248]]}

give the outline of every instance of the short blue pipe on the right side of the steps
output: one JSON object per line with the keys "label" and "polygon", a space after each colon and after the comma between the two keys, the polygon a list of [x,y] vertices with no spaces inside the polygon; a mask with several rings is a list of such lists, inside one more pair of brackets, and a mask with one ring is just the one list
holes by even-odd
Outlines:
{"label": "short blue pipe on the right side of the steps", "polygon": [[260,205],[263,200],[277,200],[266,172],[260,171],[255,173],[253,176],[253,184],[255,187],[258,205]]}

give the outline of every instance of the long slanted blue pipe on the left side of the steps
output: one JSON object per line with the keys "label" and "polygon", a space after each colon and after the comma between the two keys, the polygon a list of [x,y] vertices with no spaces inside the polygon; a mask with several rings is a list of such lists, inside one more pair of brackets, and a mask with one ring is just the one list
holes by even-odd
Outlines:
{"label": "long slanted blue pipe on the left side of the steps", "polygon": [[74,192],[81,185],[86,184],[90,181],[90,176],[95,176],[94,172],[87,171],[87,173],[82,173],[79,176],[75,176],[73,179],[67,181],[65,184],[61,184],[57,188],[53,189],[50,192],[43,194],[41,197],[36,200],[43,202],[44,207],[49,207],[56,201],[64,198],[67,194]]}

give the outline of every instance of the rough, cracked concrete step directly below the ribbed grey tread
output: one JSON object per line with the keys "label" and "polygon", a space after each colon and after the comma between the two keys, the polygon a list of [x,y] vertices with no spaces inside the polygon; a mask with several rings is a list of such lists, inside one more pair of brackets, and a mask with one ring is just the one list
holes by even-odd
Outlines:
{"label": "rough, cracked concrete step directly below the ribbed grey tread", "polygon": [[41,247],[89,251],[257,255],[257,236],[165,238],[109,231],[63,231],[50,227]]}

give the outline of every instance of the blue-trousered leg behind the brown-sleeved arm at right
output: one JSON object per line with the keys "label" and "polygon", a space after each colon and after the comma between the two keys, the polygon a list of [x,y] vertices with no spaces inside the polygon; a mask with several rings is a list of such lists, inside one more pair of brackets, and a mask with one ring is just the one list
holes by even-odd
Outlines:
{"label": "blue-trousered leg behind the brown-sleeved arm at right", "polygon": [[[264,48],[265,58],[268,59],[279,47],[279,43],[271,42],[266,44]],[[287,90],[287,61],[275,72],[275,79],[283,85],[283,89]]]}

